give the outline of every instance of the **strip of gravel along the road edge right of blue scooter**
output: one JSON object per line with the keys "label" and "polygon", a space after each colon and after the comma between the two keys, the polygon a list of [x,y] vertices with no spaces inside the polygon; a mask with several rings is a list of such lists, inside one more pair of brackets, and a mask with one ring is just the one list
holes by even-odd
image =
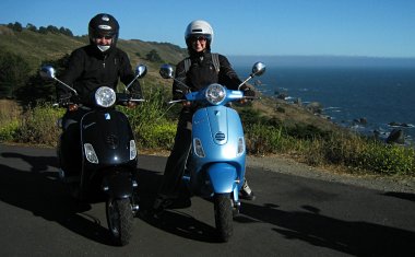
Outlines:
{"label": "strip of gravel along the road edge right of blue scooter", "polygon": [[343,174],[311,167],[280,155],[264,157],[248,156],[247,165],[251,167],[260,167],[270,172],[330,180],[376,190],[415,194],[415,178],[411,177]]}

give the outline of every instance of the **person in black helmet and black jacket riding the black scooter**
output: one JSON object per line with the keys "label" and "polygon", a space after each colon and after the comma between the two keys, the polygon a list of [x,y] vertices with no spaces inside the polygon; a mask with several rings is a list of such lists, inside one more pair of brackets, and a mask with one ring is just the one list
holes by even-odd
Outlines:
{"label": "person in black helmet and black jacket riding the black scooter", "polygon": [[[60,105],[66,106],[70,102],[83,105],[74,112],[67,112],[62,118],[63,133],[60,149],[66,156],[73,156],[80,152],[78,122],[92,106],[95,91],[103,85],[117,91],[118,80],[127,85],[134,79],[130,59],[124,51],[116,47],[118,34],[119,24],[112,15],[106,13],[95,15],[88,23],[90,45],[72,51],[68,67],[59,78],[79,94],[75,96],[68,89],[58,86],[57,96]],[[141,98],[138,80],[130,86],[130,91]],[[80,156],[73,159],[62,163],[67,176],[79,173]]]}

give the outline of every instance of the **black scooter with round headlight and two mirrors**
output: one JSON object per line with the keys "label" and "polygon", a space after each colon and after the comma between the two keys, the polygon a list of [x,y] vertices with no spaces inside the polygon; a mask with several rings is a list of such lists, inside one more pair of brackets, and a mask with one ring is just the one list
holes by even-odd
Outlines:
{"label": "black scooter with round headlight and two mirrors", "polygon": [[[146,74],[145,66],[138,66],[135,78]],[[60,81],[55,75],[55,69],[44,66],[40,70],[44,79],[58,81],[78,95],[76,91]],[[66,177],[64,170],[60,177],[72,190],[72,195],[81,201],[91,201],[95,196],[104,196],[106,201],[106,217],[108,229],[114,243],[127,245],[132,234],[133,219],[139,211],[137,164],[138,152],[135,140],[127,116],[117,110],[115,105],[127,105],[129,102],[143,102],[132,98],[127,90],[116,93],[108,86],[100,86],[95,92],[95,105],[82,106],[78,103],[68,105],[68,109],[83,108],[83,116],[79,124],[81,142],[76,151],[66,153],[58,145],[58,157],[62,167],[64,162],[73,160],[71,155],[79,155],[78,176]],[[105,194],[103,194],[105,192]],[[92,197],[94,196],[94,197]]]}

